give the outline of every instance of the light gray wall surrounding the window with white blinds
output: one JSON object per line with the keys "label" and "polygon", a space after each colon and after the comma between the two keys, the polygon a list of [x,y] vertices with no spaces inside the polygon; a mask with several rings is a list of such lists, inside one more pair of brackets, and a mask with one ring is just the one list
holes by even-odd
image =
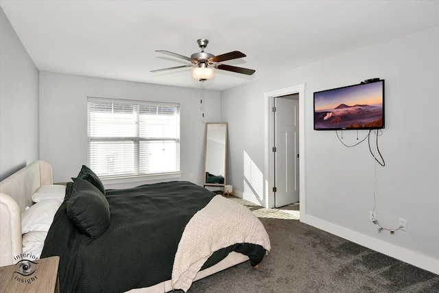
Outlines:
{"label": "light gray wall surrounding the window with white blinds", "polygon": [[[204,174],[204,123],[218,122],[219,92],[161,86],[57,73],[40,73],[40,159],[54,168],[54,181],[78,175],[87,163],[87,97],[135,99],[180,104],[179,180],[202,185]],[[202,117],[202,108],[204,118]],[[132,183],[107,188],[131,187]]]}

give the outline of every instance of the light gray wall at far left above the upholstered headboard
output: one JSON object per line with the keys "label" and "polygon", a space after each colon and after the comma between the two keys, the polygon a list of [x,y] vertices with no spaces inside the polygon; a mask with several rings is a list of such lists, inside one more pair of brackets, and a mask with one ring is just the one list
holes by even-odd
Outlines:
{"label": "light gray wall at far left above the upholstered headboard", "polygon": [[38,69],[0,8],[0,180],[38,160]]}

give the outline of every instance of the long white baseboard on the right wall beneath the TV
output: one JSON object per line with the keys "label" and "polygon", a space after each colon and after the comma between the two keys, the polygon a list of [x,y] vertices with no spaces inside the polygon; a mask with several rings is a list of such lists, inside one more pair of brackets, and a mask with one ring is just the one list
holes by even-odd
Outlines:
{"label": "long white baseboard on the right wall beneath the TV", "polygon": [[429,272],[433,272],[434,274],[439,274],[438,259],[432,259],[431,257],[426,257],[425,255],[419,255],[418,253],[414,253],[405,248],[394,246],[393,244],[383,242],[368,235],[349,230],[342,226],[331,224],[324,220],[315,218],[311,215],[300,215],[300,222],[309,224],[311,226],[319,228],[320,230],[337,235],[351,242],[355,242],[356,244],[365,246],[379,253],[383,253],[384,255],[394,257],[395,259],[399,259],[400,261],[410,263],[411,265],[422,268],[423,270],[428,270]]}

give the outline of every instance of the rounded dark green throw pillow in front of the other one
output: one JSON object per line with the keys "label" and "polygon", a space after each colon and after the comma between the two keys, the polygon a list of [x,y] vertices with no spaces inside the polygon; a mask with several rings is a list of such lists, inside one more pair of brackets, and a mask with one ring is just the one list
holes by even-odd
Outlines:
{"label": "rounded dark green throw pillow in front of the other one", "polygon": [[92,238],[102,235],[110,225],[110,207],[99,189],[82,178],[73,178],[67,215],[73,226]]}

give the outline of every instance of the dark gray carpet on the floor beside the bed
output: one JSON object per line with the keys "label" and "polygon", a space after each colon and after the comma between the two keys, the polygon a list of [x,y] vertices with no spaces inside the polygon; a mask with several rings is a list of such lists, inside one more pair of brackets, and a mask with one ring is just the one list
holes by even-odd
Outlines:
{"label": "dark gray carpet on the floor beside the bed", "polygon": [[259,219],[270,235],[271,253],[259,268],[252,268],[248,261],[241,263],[195,281],[189,293],[439,292],[437,274],[298,220],[270,218],[271,210],[246,205],[264,217]]}

